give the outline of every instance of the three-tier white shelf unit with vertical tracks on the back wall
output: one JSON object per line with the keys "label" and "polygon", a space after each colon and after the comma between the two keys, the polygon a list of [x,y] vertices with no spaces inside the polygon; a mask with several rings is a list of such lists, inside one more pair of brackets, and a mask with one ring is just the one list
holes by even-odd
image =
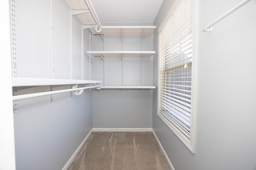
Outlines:
{"label": "three-tier white shelf unit with vertical tracks on the back wall", "polygon": [[[155,86],[142,86],[142,58],[152,57],[155,51],[142,51],[142,38],[149,38],[152,36],[156,26],[102,26],[101,32],[98,33],[93,28],[89,28],[94,37],[102,37],[103,50],[105,38],[122,38],[122,51],[87,51],[90,56],[101,57],[105,62],[105,58],[122,58],[122,86],[106,86],[105,85],[105,64],[104,66],[104,80],[101,89],[155,89]],[[123,51],[123,38],[140,38],[140,51]],[[140,59],[140,86],[124,86],[124,58],[138,58]]]}

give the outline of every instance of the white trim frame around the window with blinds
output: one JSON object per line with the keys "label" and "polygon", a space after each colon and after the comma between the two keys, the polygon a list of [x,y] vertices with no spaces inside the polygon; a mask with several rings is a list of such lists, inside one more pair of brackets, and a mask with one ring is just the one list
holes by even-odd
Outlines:
{"label": "white trim frame around the window with blinds", "polygon": [[170,8],[163,18],[162,22],[160,23],[158,27],[158,110],[157,114],[158,116],[166,123],[166,125],[174,132],[174,134],[188,147],[188,149],[194,154],[195,153],[195,116],[196,116],[196,68],[197,68],[197,63],[196,63],[196,58],[197,58],[197,33],[198,33],[198,0],[193,0],[193,46],[192,46],[192,85],[191,85],[191,121],[190,121],[190,139],[186,137],[183,133],[180,132],[180,129],[178,129],[176,126],[174,126],[166,117],[164,117],[161,113],[159,113],[159,94],[160,94],[160,81],[159,81],[159,73],[160,73],[160,67],[159,67],[159,55],[160,55],[160,39],[159,39],[159,32],[161,31],[162,27],[166,23],[166,20],[170,17],[170,15],[173,13],[177,5],[181,2],[181,0],[173,0],[172,4],[170,5]]}

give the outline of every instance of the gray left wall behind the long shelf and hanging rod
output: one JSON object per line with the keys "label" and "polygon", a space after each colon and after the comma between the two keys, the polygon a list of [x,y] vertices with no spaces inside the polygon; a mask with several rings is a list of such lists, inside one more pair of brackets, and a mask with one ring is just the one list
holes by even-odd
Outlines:
{"label": "gray left wall behind the long shelf and hanging rod", "polygon": [[[50,4],[49,1],[15,1],[17,76],[50,78]],[[53,0],[54,78],[89,78],[89,34],[72,17],[63,0]],[[71,66],[72,52],[72,66]],[[84,58],[82,58],[84,57]],[[82,68],[82,64],[86,65]],[[72,70],[71,70],[72,69]],[[84,73],[82,72],[84,70]],[[72,75],[73,72],[73,75]],[[55,87],[55,90],[70,86]],[[18,90],[18,94],[49,91],[50,86]],[[60,170],[92,129],[92,93],[80,96],[70,92],[18,101],[14,113],[17,170]]]}

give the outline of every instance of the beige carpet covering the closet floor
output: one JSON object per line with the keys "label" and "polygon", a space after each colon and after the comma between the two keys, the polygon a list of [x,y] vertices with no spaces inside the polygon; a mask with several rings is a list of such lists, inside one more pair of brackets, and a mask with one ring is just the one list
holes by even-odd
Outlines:
{"label": "beige carpet covering the closet floor", "polygon": [[94,132],[68,170],[170,170],[151,132]]}

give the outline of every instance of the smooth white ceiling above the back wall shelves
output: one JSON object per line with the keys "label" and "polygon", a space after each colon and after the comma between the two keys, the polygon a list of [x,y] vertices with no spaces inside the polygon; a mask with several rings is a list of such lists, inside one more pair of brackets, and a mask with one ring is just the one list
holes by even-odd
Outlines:
{"label": "smooth white ceiling above the back wall shelves", "polygon": [[101,23],[153,23],[163,0],[91,0]]}

